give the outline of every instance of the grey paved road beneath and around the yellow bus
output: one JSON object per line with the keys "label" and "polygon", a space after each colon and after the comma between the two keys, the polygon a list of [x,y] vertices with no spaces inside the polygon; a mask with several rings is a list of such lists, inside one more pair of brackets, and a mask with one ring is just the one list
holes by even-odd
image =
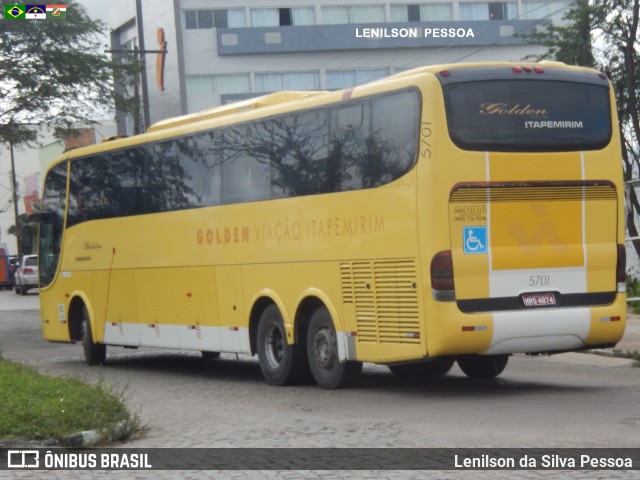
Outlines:
{"label": "grey paved road beneath and around the yellow bus", "polygon": [[[103,380],[126,389],[130,407],[146,425],[144,435],[127,447],[640,446],[640,368],[626,359],[584,353],[515,356],[490,381],[470,380],[457,367],[446,377],[403,381],[386,367],[365,365],[351,389],[272,387],[262,379],[256,359],[248,356],[204,360],[192,352],[109,348],[107,365],[87,367],[79,345],[42,339],[37,302],[35,293],[20,297],[0,292],[0,353],[52,375]],[[496,478],[476,473],[455,478]],[[637,473],[601,476],[640,478]],[[512,472],[500,478],[546,474]],[[589,472],[579,474],[571,472],[570,478],[593,478]],[[212,478],[245,478],[242,472],[220,475]],[[447,475],[438,472],[433,478],[454,478]],[[277,472],[264,476],[280,478]],[[126,478],[158,477],[165,478]],[[382,477],[424,478],[401,472]],[[307,472],[285,478],[324,476]],[[380,476],[373,472],[370,478]]]}

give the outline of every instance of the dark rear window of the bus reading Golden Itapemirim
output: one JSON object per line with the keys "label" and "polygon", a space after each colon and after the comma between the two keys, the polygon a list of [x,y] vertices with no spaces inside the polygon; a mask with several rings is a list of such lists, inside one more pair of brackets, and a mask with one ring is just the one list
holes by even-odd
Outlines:
{"label": "dark rear window of the bus reading Golden Itapemirim", "polygon": [[541,80],[444,86],[451,140],[465,150],[596,150],[611,139],[609,89]]}

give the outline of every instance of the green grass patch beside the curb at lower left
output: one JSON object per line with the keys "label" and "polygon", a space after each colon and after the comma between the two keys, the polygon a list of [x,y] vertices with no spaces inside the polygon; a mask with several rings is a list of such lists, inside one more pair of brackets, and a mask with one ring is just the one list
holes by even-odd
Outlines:
{"label": "green grass patch beside the curb at lower left", "polygon": [[0,439],[58,440],[85,430],[121,440],[137,430],[124,392],[104,383],[49,377],[0,358]]}

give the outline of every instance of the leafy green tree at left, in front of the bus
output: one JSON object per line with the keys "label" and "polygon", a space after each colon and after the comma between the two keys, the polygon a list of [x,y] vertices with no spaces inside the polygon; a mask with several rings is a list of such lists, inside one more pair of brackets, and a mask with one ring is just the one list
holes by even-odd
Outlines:
{"label": "leafy green tree at left, in front of the bus", "polygon": [[[104,53],[106,26],[86,9],[67,3],[66,20],[4,19],[0,27],[0,143],[11,151],[32,145],[36,127],[63,138],[95,123],[115,107],[132,111],[134,99],[115,85],[132,83],[135,59],[112,61]],[[15,234],[20,252],[21,224],[14,190]]]}

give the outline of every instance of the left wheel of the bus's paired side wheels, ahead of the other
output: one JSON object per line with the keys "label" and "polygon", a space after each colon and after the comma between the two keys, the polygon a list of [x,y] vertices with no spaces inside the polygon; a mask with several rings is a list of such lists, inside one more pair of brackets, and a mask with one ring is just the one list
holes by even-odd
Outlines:
{"label": "left wheel of the bus's paired side wheels, ahead of the other", "polygon": [[287,332],[280,310],[269,305],[260,315],[257,332],[258,361],[264,379],[270,385],[296,383],[305,371],[303,346],[287,343]]}

